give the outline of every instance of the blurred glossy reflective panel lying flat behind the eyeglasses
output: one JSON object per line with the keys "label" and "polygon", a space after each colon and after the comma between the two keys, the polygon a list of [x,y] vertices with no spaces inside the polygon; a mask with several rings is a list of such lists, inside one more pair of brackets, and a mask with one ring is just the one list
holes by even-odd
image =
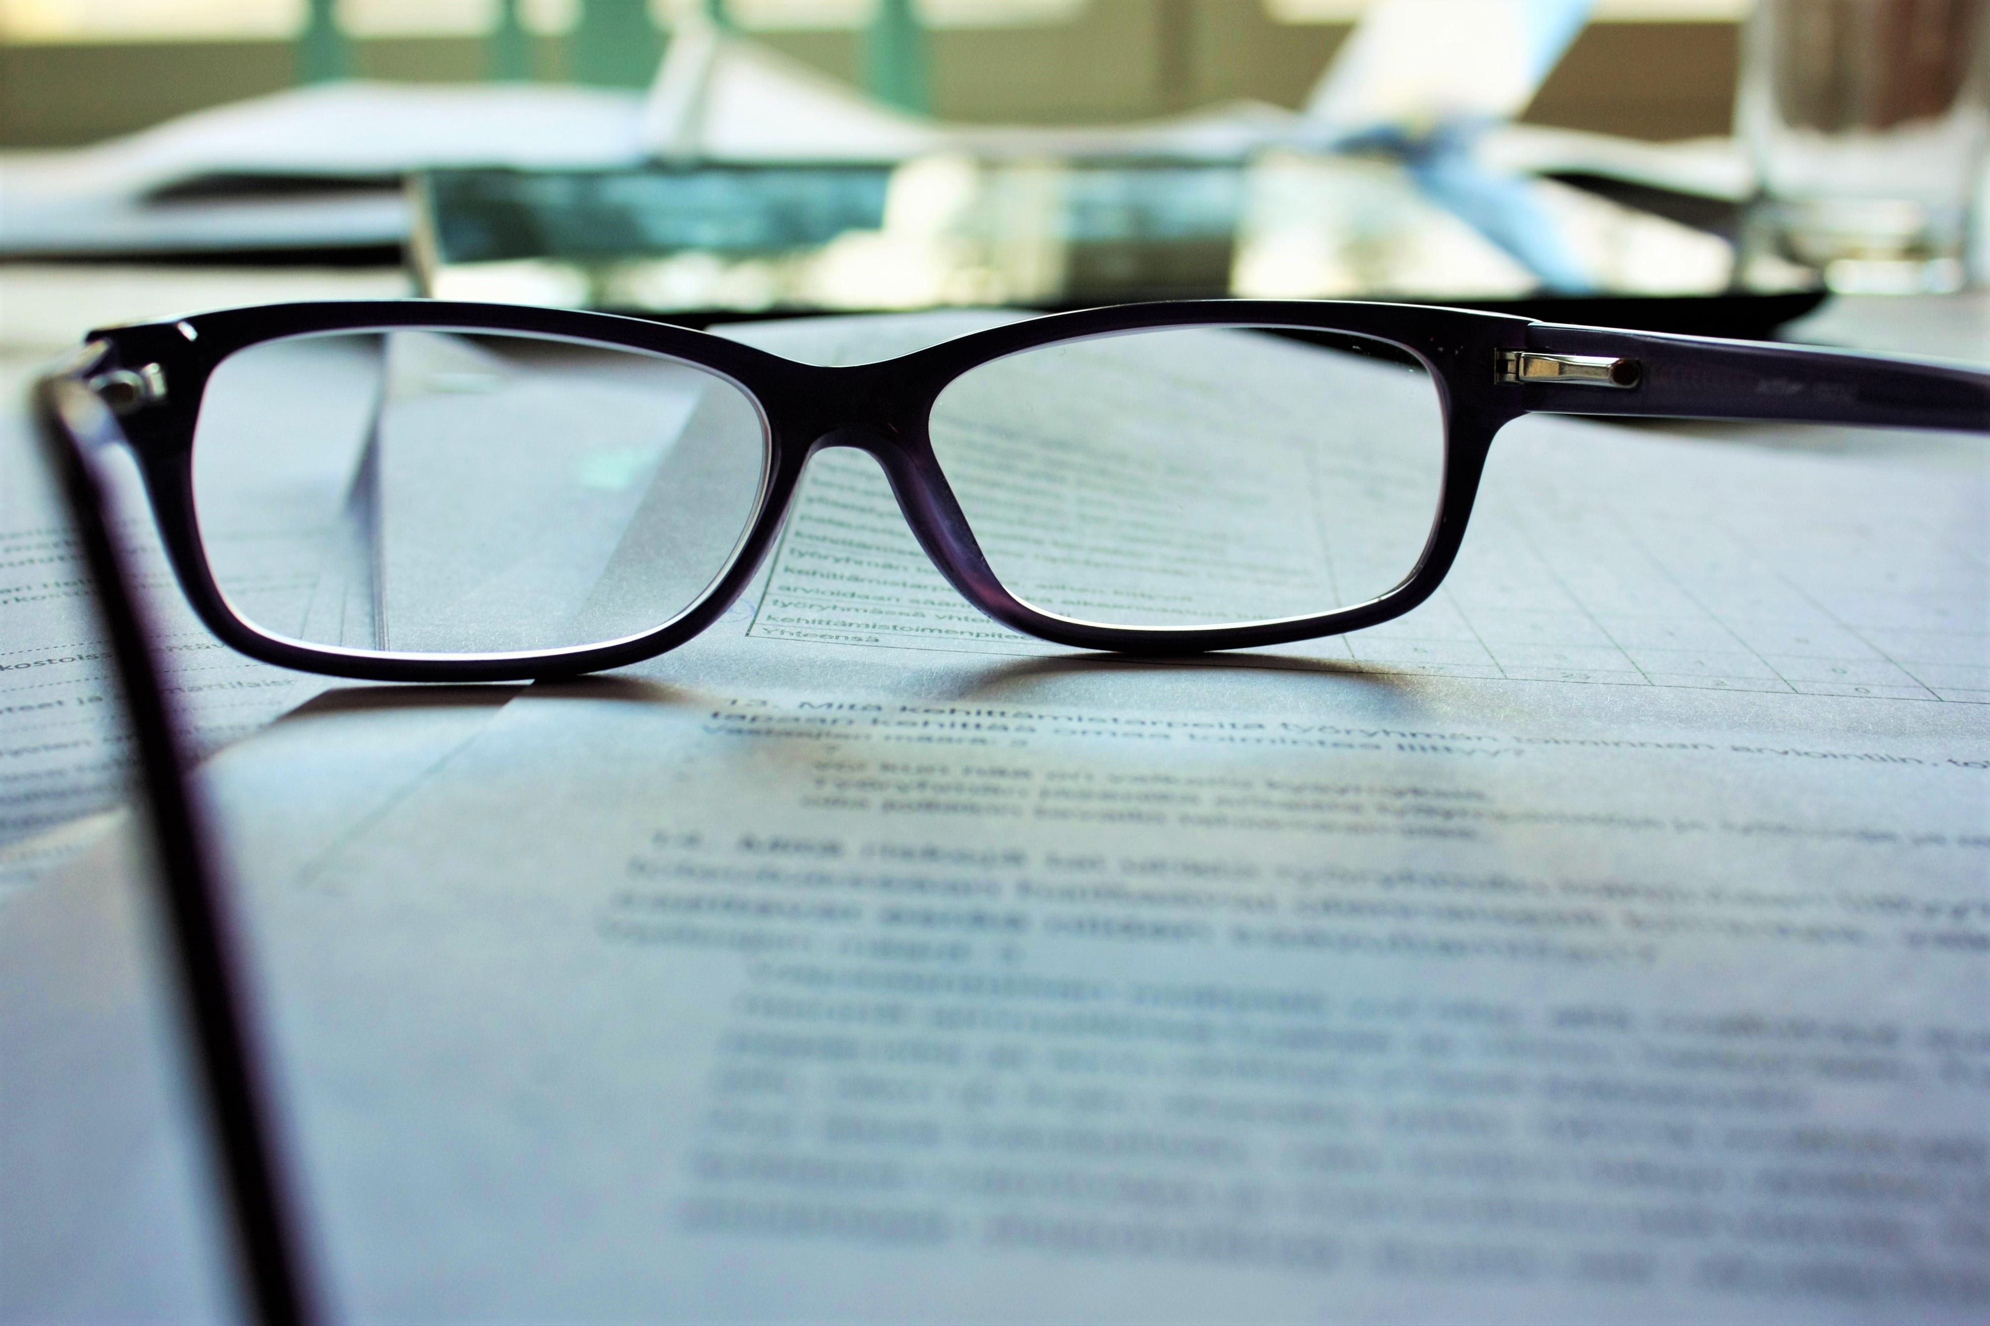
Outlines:
{"label": "blurred glossy reflective panel lying flat behind the eyeglasses", "polygon": [[[1606,291],[1711,295],[1733,247],[1532,181]],[[617,313],[1087,307],[1132,299],[1518,299],[1540,279],[1399,163],[963,153],[884,165],[430,171],[416,273],[438,299]]]}

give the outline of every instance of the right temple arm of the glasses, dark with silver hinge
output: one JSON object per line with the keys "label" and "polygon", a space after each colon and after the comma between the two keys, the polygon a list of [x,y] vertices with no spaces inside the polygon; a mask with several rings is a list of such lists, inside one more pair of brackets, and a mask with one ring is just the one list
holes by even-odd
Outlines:
{"label": "right temple arm of the glasses, dark with silver hinge", "polygon": [[1528,327],[1526,344],[1494,376],[1536,412],[1990,432],[1990,372],[1970,368],[1556,323]]}

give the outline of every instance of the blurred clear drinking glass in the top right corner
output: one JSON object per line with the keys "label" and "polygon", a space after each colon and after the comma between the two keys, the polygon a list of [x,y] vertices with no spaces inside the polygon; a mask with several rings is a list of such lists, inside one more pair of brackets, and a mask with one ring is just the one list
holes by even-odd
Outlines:
{"label": "blurred clear drinking glass in the top right corner", "polygon": [[1755,269],[1835,291],[1952,291],[1984,169],[1986,0],[1759,0],[1739,131]]}

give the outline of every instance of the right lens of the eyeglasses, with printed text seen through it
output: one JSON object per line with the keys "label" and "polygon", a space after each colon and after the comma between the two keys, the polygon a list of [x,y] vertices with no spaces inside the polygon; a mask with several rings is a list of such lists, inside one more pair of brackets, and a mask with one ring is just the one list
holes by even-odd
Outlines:
{"label": "right lens of the eyeglasses, with printed text seen through it", "polygon": [[939,466],[1025,603],[1100,625],[1311,617],[1401,583],[1437,520],[1429,372],[1361,336],[1168,329],[983,364]]}

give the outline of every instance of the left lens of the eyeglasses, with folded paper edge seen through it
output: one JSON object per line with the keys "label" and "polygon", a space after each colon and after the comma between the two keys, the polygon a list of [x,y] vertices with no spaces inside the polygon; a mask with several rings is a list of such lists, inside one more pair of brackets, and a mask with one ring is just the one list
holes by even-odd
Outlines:
{"label": "left lens of the eyeglasses, with folded paper edge seen through it", "polygon": [[754,402],[691,364],[464,331],[275,340],[215,370],[201,540],[237,613],[384,653],[651,631],[730,563],[760,496]]}

